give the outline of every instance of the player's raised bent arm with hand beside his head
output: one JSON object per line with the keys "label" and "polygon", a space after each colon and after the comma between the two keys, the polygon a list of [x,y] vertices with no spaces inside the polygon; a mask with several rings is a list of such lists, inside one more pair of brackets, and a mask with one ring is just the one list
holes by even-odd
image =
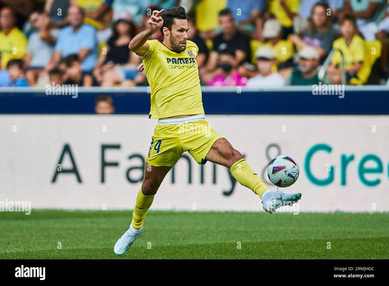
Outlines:
{"label": "player's raised bent arm with hand beside his head", "polygon": [[134,53],[136,53],[138,56],[144,55],[150,49],[150,45],[147,44],[146,41],[150,38],[152,34],[154,34],[155,31],[162,27],[163,19],[160,16],[162,12],[163,9],[161,11],[152,11],[152,15],[149,21],[147,21],[149,27],[143,32],[140,32],[138,35],[133,37],[130,44],[128,45],[128,48]]}

